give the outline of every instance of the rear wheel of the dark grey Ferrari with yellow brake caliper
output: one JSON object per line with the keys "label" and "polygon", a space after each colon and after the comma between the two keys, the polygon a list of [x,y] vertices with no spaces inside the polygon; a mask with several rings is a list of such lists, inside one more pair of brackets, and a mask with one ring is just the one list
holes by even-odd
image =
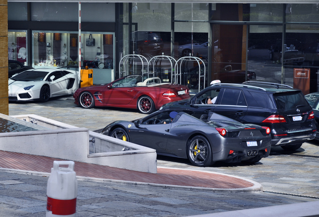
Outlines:
{"label": "rear wheel of the dark grey Ferrari with yellow brake caliper", "polygon": [[187,156],[195,166],[211,166],[214,164],[209,141],[203,136],[195,136],[187,146]]}

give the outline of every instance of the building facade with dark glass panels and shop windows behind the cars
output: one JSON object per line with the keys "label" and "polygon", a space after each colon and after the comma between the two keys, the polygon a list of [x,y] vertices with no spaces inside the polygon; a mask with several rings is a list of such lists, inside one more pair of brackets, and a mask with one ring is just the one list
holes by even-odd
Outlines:
{"label": "building facade with dark glass panels and shop windows behind the cars", "polygon": [[[306,69],[309,91],[314,92],[318,89],[318,5],[315,1],[9,1],[8,59],[34,68],[88,66],[93,69],[93,83],[100,84],[123,75],[121,60],[126,55],[138,54],[148,61],[161,55],[175,60],[195,56],[203,60],[205,72],[202,62],[184,62],[178,68],[181,82],[191,89],[201,89],[214,79],[293,86],[295,70]],[[172,81],[176,68],[160,62],[146,70]],[[132,62],[125,64],[126,73],[145,72]],[[203,73],[205,84],[199,76]],[[6,90],[5,84],[1,89]]]}

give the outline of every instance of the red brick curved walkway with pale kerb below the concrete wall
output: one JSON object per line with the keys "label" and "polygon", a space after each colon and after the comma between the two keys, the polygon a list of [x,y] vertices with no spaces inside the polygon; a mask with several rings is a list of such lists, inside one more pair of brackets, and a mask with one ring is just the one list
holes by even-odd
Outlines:
{"label": "red brick curved walkway with pale kerb below the concrete wall", "polygon": [[[61,160],[51,157],[0,151],[0,168],[50,173],[53,161]],[[183,170],[172,168],[157,168],[157,173],[146,173],[119,169],[109,166],[75,162],[74,171],[83,179],[107,179],[131,183],[147,183],[162,185],[231,191],[260,191],[262,186],[248,179],[224,175],[214,172]]]}

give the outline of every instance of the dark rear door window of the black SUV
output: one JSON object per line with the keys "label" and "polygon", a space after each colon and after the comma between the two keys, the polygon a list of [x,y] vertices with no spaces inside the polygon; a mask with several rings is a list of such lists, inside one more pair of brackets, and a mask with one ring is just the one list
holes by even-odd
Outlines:
{"label": "dark rear door window of the black SUV", "polygon": [[225,89],[220,104],[224,105],[246,105],[244,94],[239,89]]}

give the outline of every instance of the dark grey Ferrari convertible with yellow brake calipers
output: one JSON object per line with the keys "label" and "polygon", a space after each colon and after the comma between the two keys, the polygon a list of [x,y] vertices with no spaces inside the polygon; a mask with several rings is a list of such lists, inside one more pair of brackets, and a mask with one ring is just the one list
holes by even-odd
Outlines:
{"label": "dark grey Ferrari convertible with yellow brake calipers", "polygon": [[244,125],[212,112],[201,119],[187,113],[161,110],[132,122],[113,122],[101,133],[153,148],[159,155],[188,158],[196,166],[216,161],[256,163],[269,156],[268,127]]}

